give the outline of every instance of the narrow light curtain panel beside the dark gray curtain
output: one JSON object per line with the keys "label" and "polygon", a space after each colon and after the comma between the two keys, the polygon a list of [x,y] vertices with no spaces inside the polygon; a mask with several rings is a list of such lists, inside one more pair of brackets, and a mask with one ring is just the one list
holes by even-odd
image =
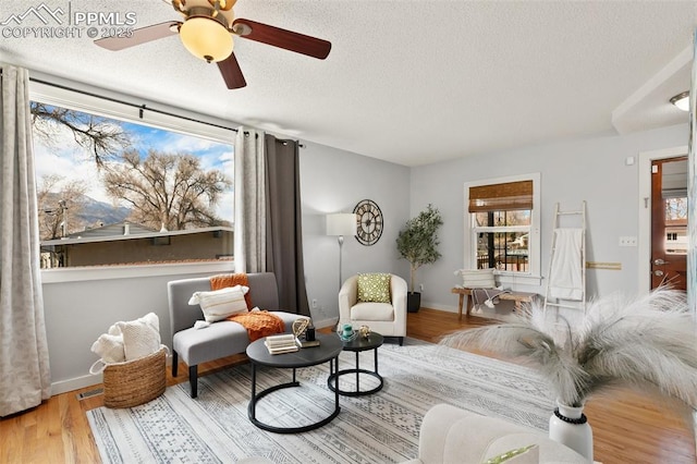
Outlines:
{"label": "narrow light curtain panel beside the dark gray curtain", "polygon": [[240,127],[235,138],[235,272],[266,270],[264,132]]}

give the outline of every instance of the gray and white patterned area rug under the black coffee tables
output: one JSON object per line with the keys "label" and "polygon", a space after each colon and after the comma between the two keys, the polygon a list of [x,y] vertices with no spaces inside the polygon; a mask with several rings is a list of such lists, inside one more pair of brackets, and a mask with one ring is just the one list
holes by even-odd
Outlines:
{"label": "gray and white patterned area rug under the black coffee tables", "polygon": [[[417,456],[421,418],[439,403],[547,430],[554,402],[533,370],[413,339],[404,346],[384,344],[378,353],[383,389],[341,396],[339,416],[305,434],[271,434],[252,425],[248,365],[201,377],[195,400],[185,382],[147,404],[99,407],[87,417],[105,463],[234,463],[249,456],[274,463],[399,463]],[[354,365],[354,353],[341,354],[340,369]],[[371,366],[372,351],[362,353],[360,367]],[[297,427],[327,417],[334,398],[328,374],[329,363],[297,369],[301,387],[264,398],[257,418]],[[257,369],[257,388],[288,382],[291,375]],[[362,390],[374,387],[370,379],[360,377]],[[351,389],[354,381],[354,375],[342,376],[340,387]]]}

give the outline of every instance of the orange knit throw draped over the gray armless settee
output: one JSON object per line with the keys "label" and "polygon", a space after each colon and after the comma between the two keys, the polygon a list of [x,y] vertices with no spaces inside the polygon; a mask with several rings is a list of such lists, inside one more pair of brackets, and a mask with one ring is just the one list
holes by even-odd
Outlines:
{"label": "orange knit throw draped over the gray armless settee", "polygon": [[[210,278],[210,290],[220,290],[225,286],[244,285],[249,286],[249,281],[246,273],[224,273],[213,276]],[[247,309],[252,309],[252,289],[244,295],[244,300],[247,303]],[[241,323],[242,327],[247,329],[249,341],[255,341],[267,335],[274,333],[283,333],[285,331],[285,325],[283,319],[269,313],[268,310],[260,310],[254,313],[235,314],[228,318],[234,322]]]}

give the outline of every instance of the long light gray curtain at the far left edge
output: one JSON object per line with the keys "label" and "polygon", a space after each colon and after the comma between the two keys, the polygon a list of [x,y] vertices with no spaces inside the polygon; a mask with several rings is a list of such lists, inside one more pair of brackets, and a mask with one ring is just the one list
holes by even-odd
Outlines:
{"label": "long light gray curtain at the far left edge", "polygon": [[26,70],[2,68],[0,416],[51,395],[28,85]]}

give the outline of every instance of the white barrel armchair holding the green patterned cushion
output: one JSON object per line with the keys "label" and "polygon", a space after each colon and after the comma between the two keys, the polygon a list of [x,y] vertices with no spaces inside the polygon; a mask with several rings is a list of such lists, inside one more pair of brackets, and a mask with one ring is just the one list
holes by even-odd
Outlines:
{"label": "white barrel armchair holding the green patterned cushion", "polygon": [[406,281],[399,276],[390,278],[389,303],[364,302],[358,298],[358,274],[352,276],[339,291],[339,323],[351,323],[354,330],[368,326],[383,337],[406,337]]}

